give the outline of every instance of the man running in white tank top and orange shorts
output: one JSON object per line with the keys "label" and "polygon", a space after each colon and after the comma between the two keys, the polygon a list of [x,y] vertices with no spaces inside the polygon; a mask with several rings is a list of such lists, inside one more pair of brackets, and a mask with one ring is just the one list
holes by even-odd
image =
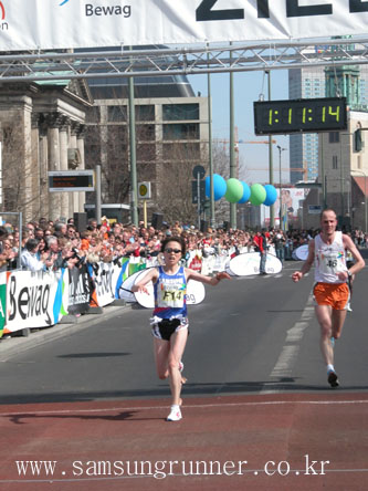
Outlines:
{"label": "man running in white tank top and orange shorts", "polygon": [[[358,249],[349,236],[336,231],[337,220],[333,209],[320,213],[320,233],[309,241],[308,257],[301,271],[293,273],[293,281],[299,281],[315,264],[313,289],[315,312],[320,325],[320,351],[327,365],[327,380],[332,387],[339,385],[334,368],[334,342],[341,334],[349,301],[349,276],[365,267]],[[355,264],[347,269],[346,250],[350,251]]]}

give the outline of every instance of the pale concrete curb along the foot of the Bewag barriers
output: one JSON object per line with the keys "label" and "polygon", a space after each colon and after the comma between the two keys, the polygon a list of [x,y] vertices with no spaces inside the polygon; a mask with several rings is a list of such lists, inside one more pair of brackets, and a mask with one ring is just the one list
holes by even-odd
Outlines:
{"label": "pale concrete curb along the foot of the Bewag barriers", "polygon": [[132,304],[129,303],[124,305],[112,304],[104,307],[101,315],[96,315],[96,313],[88,313],[81,315],[80,317],[69,316],[73,317],[70,318],[71,323],[69,324],[60,323],[51,327],[41,327],[40,331],[32,331],[28,337],[13,336],[7,339],[2,338],[0,339],[0,362],[7,362],[13,355],[18,355],[52,341],[70,336],[130,310]]}

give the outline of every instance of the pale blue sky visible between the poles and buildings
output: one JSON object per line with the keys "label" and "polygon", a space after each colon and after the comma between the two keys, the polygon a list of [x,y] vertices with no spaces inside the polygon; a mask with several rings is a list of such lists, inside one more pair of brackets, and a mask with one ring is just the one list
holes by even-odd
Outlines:
{"label": "pale blue sky visible between the poles and buildings", "polygon": [[[188,76],[189,82],[196,94],[208,95],[207,74]],[[212,95],[212,137],[213,139],[230,138],[230,75],[211,74],[211,95]],[[269,136],[255,136],[253,102],[260,100],[263,94],[267,100],[267,75],[263,72],[241,72],[234,73],[234,121],[238,127],[238,138],[244,142],[267,142]],[[287,70],[274,70],[271,72],[271,98],[288,98],[287,94]],[[288,137],[275,135],[273,139],[273,168],[274,182],[280,181],[280,152],[276,145],[287,150],[282,152],[282,169],[288,168]],[[240,144],[240,178],[246,184],[270,184],[269,178],[269,145],[263,144]],[[244,170],[245,168],[245,170]],[[255,169],[255,170],[253,170]],[[290,181],[290,173],[282,171],[282,181]]]}

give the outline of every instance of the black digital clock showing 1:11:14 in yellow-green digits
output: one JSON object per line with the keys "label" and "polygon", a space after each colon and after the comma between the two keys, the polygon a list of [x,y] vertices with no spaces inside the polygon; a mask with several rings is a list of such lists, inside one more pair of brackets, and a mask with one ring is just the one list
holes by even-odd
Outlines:
{"label": "black digital clock showing 1:11:14 in yellow-green digits", "polygon": [[255,135],[347,129],[346,98],[254,102]]}

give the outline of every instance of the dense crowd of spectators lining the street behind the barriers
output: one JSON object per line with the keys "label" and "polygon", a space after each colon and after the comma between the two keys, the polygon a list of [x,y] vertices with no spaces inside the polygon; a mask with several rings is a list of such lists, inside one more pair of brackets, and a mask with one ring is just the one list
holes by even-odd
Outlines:
{"label": "dense crowd of spectators lining the street behind the barriers", "polygon": [[[90,219],[85,230],[78,231],[71,218],[67,222],[50,221],[41,218],[28,222],[20,231],[11,223],[0,227],[0,271],[21,267],[24,270],[42,271],[59,268],[76,268],[84,262],[111,262],[122,257],[158,255],[161,241],[170,236],[185,238],[188,251],[201,250],[203,255],[250,252],[254,248],[255,232],[238,229],[211,229],[202,232],[193,226],[165,223],[162,228],[109,222],[103,217],[102,223]],[[267,245],[273,244],[277,255],[292,259],[297,247],[307,243],[314,237],[313,230],[266,232]],[[368,236],[359,230],[351,232],[351,238],[359,247],[368,245]],[[21,249],[21,264],[19,250]]]}

